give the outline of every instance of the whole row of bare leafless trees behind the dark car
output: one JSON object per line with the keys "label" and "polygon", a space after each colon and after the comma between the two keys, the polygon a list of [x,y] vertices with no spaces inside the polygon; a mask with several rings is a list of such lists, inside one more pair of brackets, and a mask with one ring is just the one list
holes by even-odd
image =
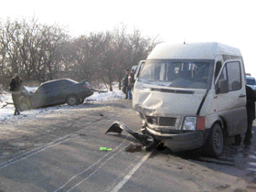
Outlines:
{"label": "whole row of bare leafless trees behind the dark car", "polygon": [[65,27],[41,25],[35,18],[0,23],[0,84],[15,73],[24,80],[92,80],[110,87],[121,82],[159,41],[132,34],[122,25],[113,31],[90,33],[71,39]]}

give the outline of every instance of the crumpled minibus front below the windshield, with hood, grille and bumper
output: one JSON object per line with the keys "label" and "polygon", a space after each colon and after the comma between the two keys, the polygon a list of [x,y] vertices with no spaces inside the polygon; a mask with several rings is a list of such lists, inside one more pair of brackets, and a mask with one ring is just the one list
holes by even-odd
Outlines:
{"label": "crumpled minibus front below the windshield, with hood, grille and bumper", "polygon": [[142,132],[152,136],[155,144],[165,144],[174,152],[202,146],[205,117],[199,116],[197,109],[205,92],[174,91],[169,94],[150,90],[136,94],[133,109],[143,120]]}

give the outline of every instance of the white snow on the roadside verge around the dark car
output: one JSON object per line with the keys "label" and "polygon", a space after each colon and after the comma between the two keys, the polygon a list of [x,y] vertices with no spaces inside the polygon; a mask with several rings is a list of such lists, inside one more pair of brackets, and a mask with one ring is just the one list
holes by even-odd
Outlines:
{"label": "white snow on the roadside verge around the dark car", "polygon": [[[26,87],[27,90],[33,91],[36,88],[29,88]],[[1,94],[2,93],[2,94]],[[94,92],[91,97],[85,99],[84,102],[95,102],[95,101],[112,101],[124,98],[125,95],[123,91],[118,90],[117,83],[113,85],[113,91],[107,92]],[[2,91],[0,92],[0,124],[4,123],[16,123],[19,119],[23,119],[24,117],[28,117],[29,119],[36,118],[38,115],[47,114],[51,112],[61,111],[65,109],[79,109],[84,108],[86,105],[77,105],[77,106],[69,106],[68,104],[58,105],[54,107],[47,107],[47,108],[39,108],[39,109],[32,109],[29,111],[21,112],[20,115],[14,115],[15,108],[13,104],[8,104],[4,108],[2,108],[6,102],[13,102],[11,92]]]}

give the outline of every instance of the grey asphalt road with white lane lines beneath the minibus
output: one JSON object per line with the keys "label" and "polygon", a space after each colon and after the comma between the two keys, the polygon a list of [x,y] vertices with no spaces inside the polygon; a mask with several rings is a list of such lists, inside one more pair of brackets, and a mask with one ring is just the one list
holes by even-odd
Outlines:
{"label": "grey asphalt road with white lane lines beneath the minibus", "polygon": [[105,134],[115,121],[140,130],[132,101],[84,106],[0,125],[1,192],[256,191],[255,136],[250,150],[227,141],[218,158],[144,151],[124,131]]}

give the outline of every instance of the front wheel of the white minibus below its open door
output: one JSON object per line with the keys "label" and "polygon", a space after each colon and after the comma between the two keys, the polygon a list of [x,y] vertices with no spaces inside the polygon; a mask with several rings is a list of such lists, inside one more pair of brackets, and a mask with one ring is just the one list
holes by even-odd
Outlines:
{"label": "front wheel of the white minibus below its open door", "polygon": [[208,140],[205,144],[205,151],[208,155],[219,156],[223,150],[223,133],[218,123],[214,124],[208,135]]}

